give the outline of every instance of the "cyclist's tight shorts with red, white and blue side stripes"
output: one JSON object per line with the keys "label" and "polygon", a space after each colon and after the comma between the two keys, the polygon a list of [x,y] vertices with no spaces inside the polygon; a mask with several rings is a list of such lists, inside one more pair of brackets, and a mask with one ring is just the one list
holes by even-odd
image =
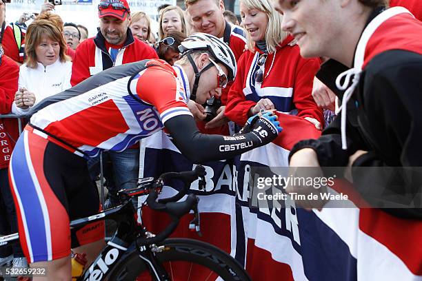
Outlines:
{"label": "cyclist's tight shorts with red, white and blue side stripes", "polygon": [[70,220],[99,211],[86,160],[26,126],[9,165],[19,239],[28,262],[57,260],[104,237],[104,222],[70,230]]}

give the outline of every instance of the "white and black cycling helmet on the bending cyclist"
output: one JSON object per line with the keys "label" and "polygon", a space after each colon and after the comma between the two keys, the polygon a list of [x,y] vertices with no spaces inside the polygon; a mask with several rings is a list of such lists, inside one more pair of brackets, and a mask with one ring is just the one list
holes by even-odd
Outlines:
{"label": "white and black cycling helmet on the bending cyclist", "polygon": [[181,56],[196,51],[208,51],[217,62],[225,65],[228,69],[228,81],[233,81],[236,77],[236,59],[229,46],[213,35],[197,32],[191,34],[179,45]]}

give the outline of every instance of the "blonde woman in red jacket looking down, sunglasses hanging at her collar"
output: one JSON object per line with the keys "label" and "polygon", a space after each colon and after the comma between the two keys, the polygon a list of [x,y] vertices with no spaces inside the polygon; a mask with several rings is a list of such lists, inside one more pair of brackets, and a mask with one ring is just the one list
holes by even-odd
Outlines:
{"label": "blonde woman in red jacket looking down, sunglasses hanging at her collar", "polygon": [[277,110],[320,128],[322,112],[311,94],[319,59],[300,56],[293,38],[281,30],[282,16],[270,1],[241,0],[240,12],[248,50],[239,59],[225,115],[244,125],[260,110]]}

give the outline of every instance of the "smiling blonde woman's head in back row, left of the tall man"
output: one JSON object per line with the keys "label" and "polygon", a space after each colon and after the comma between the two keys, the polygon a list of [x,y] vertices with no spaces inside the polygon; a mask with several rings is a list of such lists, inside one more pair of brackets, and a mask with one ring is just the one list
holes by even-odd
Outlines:
{"label": "smiling blonde woman's head in back row, left of the tall man", "polygon": [[183,10],[177,6],[168,6],[159,19],[159,39],[167,37],[170,30],[177,30],[186,35],[186,23]]}

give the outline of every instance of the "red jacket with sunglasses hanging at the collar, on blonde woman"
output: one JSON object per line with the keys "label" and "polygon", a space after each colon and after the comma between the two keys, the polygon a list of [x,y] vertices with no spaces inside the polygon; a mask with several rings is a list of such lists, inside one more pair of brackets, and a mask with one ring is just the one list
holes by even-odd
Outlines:
{"label": "red jacket with sunglasses hanging at the collar, on blonde woman", "polygon": [[[319,59],[303,59],[299,46],[291,45],[288,36],[273,54],[268,54],[264,65],[262,84],[255,82],[259,69],[258,58],[262,52],[245,51],[237,67],[237,77],[228,94],[225,116],[243,126],[248,120],[248,111],[261,98],[270,98],[278,112],[279,119],[288,116],[311,117],[323,124],[323,112],[312,98],[312,83],[319,70]],[[280,120],[283,127],[283,120]]]}

